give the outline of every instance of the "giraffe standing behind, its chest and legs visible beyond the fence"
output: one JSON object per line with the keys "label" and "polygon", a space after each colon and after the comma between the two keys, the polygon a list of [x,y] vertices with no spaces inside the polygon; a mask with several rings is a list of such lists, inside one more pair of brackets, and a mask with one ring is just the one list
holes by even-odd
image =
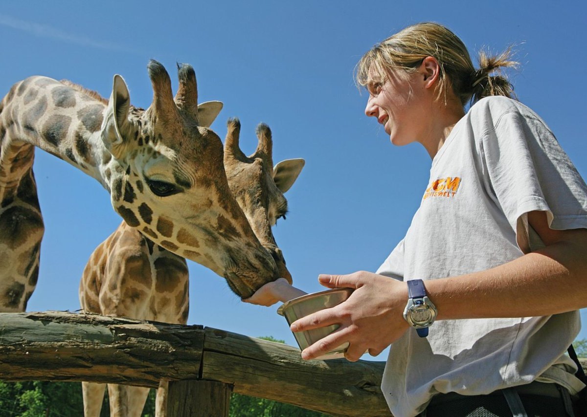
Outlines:
{"label": "giraffe standing behind, its chest and legs visible beyond the fence", "polygon": [[[211,123],[211,122],[210,122]],[[291,277],[271,226],[288,211],[284,193],[303,168],[302,159],[273,165],[272,135],[257,127],[258,145],[247,157],[239,148],[240,123],[228,121],[224,167],[232,195],[262,245],[276,257],[282,277]],[[185,259],[151,242],[122,222],[90,256],[80,282],[82,310],[112,316],[186,324],[188,269]],[[167,381],[157,390],[157,416],[166,415]],[[100,415],[106,384],[82,383],[84,415]],[[141,415],[149,388],[108,384],[111,416]]]}

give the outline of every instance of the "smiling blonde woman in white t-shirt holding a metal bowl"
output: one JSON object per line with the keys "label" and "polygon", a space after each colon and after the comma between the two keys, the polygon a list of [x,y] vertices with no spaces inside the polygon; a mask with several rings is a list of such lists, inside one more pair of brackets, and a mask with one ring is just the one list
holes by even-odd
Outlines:
{"label": "smiling blonde woman in white t-shirt holding a metal bowl", "polygon": [[382,389],[397,417],[572,415],[584,385],[565,351],[587,306],[587,187],[492,75],[515,65],[508,53],[480,58],[475,70],[454,33],[420,23],[360,60],[366,115],[394,145],[426,148],[430,181],[377,273],[322,274],[355,291],[291,329],[341,324],[305,359],[349,341],[356,361],[391,344]]}

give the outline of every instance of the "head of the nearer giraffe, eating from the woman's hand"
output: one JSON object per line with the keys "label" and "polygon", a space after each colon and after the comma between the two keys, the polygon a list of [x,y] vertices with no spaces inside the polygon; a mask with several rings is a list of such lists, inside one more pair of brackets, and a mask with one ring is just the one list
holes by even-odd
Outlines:
{"label": "head of the nearer giraffe, eating from the woman's hand", "polygon": [[175,97],[164,67],[151,60],[148,69],[149,108],[130,106],[116,75],[104,114],[102,169],[113,208],[158,245],[214,270],[249,297],[281,275],[232,196],[221,140],[207,128],[221,104],[198,107],[189,65],[178,65]]}

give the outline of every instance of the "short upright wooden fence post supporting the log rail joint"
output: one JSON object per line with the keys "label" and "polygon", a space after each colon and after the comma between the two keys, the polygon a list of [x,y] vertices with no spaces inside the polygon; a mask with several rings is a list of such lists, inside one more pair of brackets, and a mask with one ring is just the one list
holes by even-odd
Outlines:
{"label": "short upright wooden fence post supporting the log rail joint", "polygon": [[232,386],[224,382],[190,379],[169,381],[167,415],[228,417]]}

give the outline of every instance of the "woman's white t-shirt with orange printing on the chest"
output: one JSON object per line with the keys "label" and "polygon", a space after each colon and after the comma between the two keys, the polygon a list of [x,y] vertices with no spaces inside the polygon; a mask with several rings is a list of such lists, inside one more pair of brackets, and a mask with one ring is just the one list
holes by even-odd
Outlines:
{"label": "woman's white t-shirt with orange printing on the chest", "polygon": [[[528,228],[535,210],[552,229],[587,228],[587,186],[537,114],[505,97],[480,100],[434,157],[420,208],[377,273],[426,281],[502,265],[541,245]],[[533,300],[520,293],[519,302]],[[488,394],[537,378],[575,393],[583,384],[565,352],[580,327],[573,311],[440,320],[426,338],[407,331],[390,348],[383,394],[404,417],[439,392]]]}

